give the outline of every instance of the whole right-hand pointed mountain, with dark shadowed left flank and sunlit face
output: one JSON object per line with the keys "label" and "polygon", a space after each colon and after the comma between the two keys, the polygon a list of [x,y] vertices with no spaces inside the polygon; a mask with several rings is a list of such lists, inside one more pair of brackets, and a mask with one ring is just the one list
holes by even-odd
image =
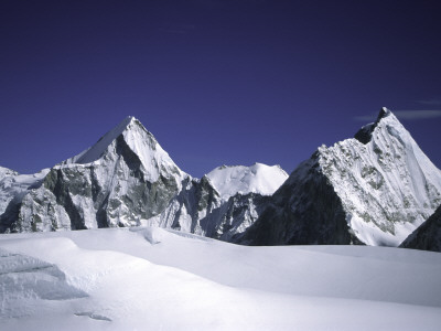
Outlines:
{"label": "whole right-hand pointed mountain, with dark shadowed left flank and sunlit face", "polygon": [[386,108],[355,137],[320,147],[238,241],[398,246],[441,204],[441,172]]}

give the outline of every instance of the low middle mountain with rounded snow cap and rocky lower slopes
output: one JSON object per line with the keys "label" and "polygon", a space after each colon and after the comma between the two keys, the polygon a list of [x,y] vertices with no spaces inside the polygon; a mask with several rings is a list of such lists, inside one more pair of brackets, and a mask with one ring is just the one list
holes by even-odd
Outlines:
{"label": "low middle mountain with rounded snow cap and rocky lower slopes", "polygon": [[229,241],[251,225],[288,174],[279,167],[219,167],[183,190],[148,225]]}

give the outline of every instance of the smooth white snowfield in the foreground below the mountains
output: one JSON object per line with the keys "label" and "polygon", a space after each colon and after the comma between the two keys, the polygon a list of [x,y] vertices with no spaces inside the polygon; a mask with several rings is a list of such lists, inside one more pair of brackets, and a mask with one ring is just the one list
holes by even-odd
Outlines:
{"label": "smooth white snowfield in the foreground below the mountains", "polygon": [[1,330],[439,330],[441,254],[161,228],[0,236]]}

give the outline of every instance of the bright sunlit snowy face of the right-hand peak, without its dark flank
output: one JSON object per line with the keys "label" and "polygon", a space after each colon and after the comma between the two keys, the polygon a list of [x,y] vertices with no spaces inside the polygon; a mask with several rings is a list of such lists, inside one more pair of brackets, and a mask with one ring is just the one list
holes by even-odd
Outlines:
{"label": "bright sunlit snowy face of the right-hand peak, without its dark flank", "polygon": [[356,236],[397,246],[441,203],[441,171],[387,108],[355,139],[319,148]]}

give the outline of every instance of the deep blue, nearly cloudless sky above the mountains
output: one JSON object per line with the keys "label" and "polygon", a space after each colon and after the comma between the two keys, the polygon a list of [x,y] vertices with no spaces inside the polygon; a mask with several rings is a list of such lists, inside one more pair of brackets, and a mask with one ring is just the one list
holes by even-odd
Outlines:
{"label": "deep blue, nearly cloudless sky above the mountains", "polygon": [[0,1],[0,166],[137,117],[194,177],[291,172],[391,109],[441,168],[439,1]]}

